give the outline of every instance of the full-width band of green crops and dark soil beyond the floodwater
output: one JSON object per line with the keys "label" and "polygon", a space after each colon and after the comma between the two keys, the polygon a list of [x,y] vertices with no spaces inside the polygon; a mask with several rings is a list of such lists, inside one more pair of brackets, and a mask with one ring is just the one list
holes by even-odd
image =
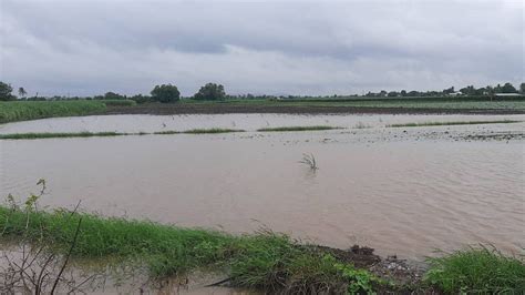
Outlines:
{"label": "full-width band of green crops and dark soil beyond the floodwater", "polygon": [[[347,109],[344,109],[347,108]],[[356,112],[359,109],[373,112],[459,112],[523,113],[525,98],[493,100],[486,98],[404,98],[404,99],[294,99],[294,100],[182,100],[174,104],[136,104],[131,100],[103,101],[10,101],[0,102],[0,124],[53,116],[74,116],[110,113],[228,113],[228,112]]]}

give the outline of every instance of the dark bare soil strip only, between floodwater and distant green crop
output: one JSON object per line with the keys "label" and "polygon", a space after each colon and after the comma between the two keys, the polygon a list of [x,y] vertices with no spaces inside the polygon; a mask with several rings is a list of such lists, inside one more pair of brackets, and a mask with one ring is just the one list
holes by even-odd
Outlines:
{"label": "dark bare soil strip only, between floodwater and distant green crop", "polygon": [[134,106],[107,106],[106,114],[226,114],[226,113],[375,113],[375,114],[525,114],[511,109],[434,109],[434,108],[370,108],[319,105],[246,105],[246,104],[140,104]]}

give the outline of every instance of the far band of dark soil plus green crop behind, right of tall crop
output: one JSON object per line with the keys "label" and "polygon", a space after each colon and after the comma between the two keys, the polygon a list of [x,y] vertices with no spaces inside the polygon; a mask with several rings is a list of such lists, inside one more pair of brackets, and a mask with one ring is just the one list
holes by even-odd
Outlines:
{"label": "far band of dark soil plus green crop behind, right of tall crop", "polygon": [[374,113],[374,114],[524,114],[525,100],[483,102],[410,101],[264,101],[200,102],[107,106],[106,114],[224,114],[224,113]]}

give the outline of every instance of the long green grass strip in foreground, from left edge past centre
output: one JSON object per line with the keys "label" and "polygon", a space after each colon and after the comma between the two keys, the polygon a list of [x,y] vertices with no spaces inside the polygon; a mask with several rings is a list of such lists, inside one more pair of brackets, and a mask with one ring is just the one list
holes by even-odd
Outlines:
{"label": "long green grass strip in foreground, from left edge past centre", "polygon": [[63,210],[37,212],[0,206],[1,237],[44,243],[51,251],[64,253],[80,218],[74,257],[128,258],[145,263],[154,277],[206,266],[227,272],[234,286],[265,291],[367,292],[380,283],[367,271],[357,271],[316,247],[271,232],[234,236]]}

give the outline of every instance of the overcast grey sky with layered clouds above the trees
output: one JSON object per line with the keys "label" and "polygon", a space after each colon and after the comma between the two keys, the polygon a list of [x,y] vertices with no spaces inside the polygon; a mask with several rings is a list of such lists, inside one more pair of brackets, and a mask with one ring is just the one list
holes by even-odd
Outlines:
{"label": "overcast grey sky with layered clouds above the trees", "polygon": [[524,13],[522,0],[0,0],[0,81],[29,95],[518,87]]}

